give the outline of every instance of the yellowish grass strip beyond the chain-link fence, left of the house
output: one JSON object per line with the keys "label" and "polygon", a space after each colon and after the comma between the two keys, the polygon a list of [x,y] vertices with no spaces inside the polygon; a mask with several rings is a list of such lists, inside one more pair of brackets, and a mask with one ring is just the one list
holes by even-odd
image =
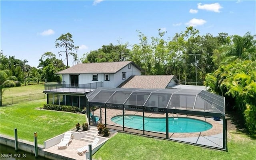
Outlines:
{"label": "yellowish grass strip beyond the chain-link fence, left of the house", "polygon": [[37,94],[44,91],[44,84],[35,84],[21,87],[7,88],[4,91],[3,98],[23,96],[28,94]]}

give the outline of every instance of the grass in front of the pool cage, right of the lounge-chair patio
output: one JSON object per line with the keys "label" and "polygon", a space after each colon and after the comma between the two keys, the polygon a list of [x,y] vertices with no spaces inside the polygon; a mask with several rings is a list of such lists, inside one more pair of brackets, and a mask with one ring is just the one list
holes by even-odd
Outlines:
{"label": "grass in front of the pool cage, right of the lounge-chair patio", "polygon": [[228,152],[118,133],[93,156],[96,160],[256,160],[256,140],[229,132]]}

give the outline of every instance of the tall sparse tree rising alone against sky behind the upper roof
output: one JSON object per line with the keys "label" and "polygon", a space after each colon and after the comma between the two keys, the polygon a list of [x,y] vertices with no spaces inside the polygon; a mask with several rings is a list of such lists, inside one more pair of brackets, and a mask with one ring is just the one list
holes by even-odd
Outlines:
{"label": "tall sparse tree rising alone against sky behind the upper roof", "polygon": [[[68,56],[71,55],[73,57],[73,59],[76,59],[77,58],[77,54],[76,54],[76,51],[77,49],[79,48],[78,46],[75,46],[74,45],[74,41],[72,39],[72,34],[70,33],[66,33],[66,34],[62,34],[58,39],[56,39],[55,41],[55,47],[56,48],[62,48],[64,47],[64,51],[60,51],[58,52],[58,54],[60,56],[62,56],[62,52],[65,53],[65,56],[66,56],[66,62],[67,62],[67,65],[66,65],[66,68],[68,68]],[[64,59],[64,60],[65,60]]]}

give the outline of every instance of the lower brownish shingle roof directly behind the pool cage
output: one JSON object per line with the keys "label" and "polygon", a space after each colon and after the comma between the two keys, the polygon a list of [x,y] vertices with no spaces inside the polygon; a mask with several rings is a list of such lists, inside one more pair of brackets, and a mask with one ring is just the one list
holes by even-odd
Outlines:
{"label": "lower brownish shingle roof directly behind the pool cage", "polygon": [[173,75],[154,75],[154,76],[134,76],[124,83],[120,88],[143,88],[143,89],[162,89],[166,88],[174,76]]}

